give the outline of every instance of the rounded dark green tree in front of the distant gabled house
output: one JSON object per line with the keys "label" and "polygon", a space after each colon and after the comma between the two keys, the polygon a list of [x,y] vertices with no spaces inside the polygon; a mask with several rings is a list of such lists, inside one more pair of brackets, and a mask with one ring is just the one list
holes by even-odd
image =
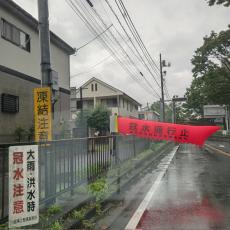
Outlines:
{"label": "rounded dark green tree in front of the distant gabled house", "polygon": [[106,107],[98,105],[89,116],[88,125],[99,131],[100,134],[105,133],[109,130],[109,117],[110,111]]}

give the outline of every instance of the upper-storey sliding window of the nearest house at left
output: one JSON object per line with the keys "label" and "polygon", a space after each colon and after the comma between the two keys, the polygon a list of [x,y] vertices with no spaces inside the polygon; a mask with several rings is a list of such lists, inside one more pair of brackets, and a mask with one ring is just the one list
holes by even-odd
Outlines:
{"label": "upper-storey sliding window of the nearest house at left", "polygon": [[2,38],[30,52],[30,36],[13,24],[1,19]]}

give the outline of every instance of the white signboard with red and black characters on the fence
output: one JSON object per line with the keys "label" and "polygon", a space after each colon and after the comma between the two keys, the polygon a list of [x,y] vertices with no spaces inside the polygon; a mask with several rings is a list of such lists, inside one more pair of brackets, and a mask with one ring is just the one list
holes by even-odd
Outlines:
{"label": "white signboard with red and black characters on the fence", "polygon": [[9,228],[39,222],[38,146],[9,148]]}

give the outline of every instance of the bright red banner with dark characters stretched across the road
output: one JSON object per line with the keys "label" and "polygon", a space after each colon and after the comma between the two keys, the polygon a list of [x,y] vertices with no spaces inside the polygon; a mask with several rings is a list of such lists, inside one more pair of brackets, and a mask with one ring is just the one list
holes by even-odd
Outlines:
{"label": "bright red banner with dark characters stretched across the road", "polygon": [[118,117],[118,132],[155,140],[169,140],[202,146],[219,130],[218,126],[191,126]]}

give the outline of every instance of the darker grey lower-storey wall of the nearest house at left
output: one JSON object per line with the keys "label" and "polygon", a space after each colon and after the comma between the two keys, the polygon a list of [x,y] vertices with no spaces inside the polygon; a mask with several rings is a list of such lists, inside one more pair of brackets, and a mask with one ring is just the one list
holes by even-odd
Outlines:
{"label": "darker grey lower-storey wall of the nearest house at left", "polygon": [[[0,71],[0,98],[2,93],[19,96],[19,112],[3,113],[0,108],[0,143],[14,141],[13,134],[17,127],[28,130],[34,126],[33,88],[40,84],[23,80]],[[1,103],[0,103],[1,107]],[[60,124],[70,119],[70,95],[60,92],[55,104],[53,120],[54,133],[60,131]]]}

